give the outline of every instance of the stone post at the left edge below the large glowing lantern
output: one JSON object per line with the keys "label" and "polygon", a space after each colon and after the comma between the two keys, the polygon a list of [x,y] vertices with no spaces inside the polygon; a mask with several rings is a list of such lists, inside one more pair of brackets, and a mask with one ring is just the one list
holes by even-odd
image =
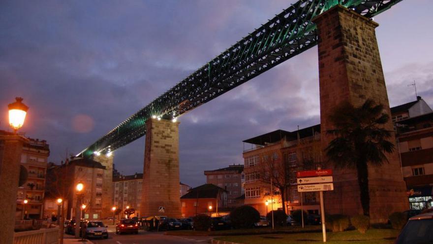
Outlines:
{"label": "stone post at the left edge below the large glowing lantern", "polygon": [[17,135],[0,136],[0,240],[12,244],[23,143]]}

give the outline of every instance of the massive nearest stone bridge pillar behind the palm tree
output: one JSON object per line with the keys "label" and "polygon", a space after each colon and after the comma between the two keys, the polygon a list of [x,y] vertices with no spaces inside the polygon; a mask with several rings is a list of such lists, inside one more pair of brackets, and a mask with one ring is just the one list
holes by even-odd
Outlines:
{"label": "massive nearest stone bridge pillar behind the palm tree", "polygon": [[[333,129],[329,115],[340,103],[358,106],[372,99],[391,112],[374,31],[378,24],[340,5],[313,22],[319,35],[321,143],[325,148],[333,139],[326,135]],[[385,128],[393,130],[392,122]],[[395,135],[389,140],[396,141]],[[397,150],[388,160],[389,164],[368,169],[372,223],[386,222],[390,213],[408,209]],[[334,169],[334,180],[335,190],[325,193],[325,212],[362,214],[356,170]]]}

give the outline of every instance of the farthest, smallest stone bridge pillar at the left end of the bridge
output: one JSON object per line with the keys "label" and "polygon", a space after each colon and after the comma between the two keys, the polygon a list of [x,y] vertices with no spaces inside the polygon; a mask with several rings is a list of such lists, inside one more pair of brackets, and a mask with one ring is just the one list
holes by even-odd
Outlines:
{"label": "farthest, smallest stone bridge pillar at the left end of the bridge", "polygon": [[112,217],[113,212],[111,208],[113,207],[113,159],[114,153],[111,156],[101,154],[99,156],[94,155],[93,160],[105,166],[104,176],[102,178],[102,204],[101,204],[101,216],[100,218]]}

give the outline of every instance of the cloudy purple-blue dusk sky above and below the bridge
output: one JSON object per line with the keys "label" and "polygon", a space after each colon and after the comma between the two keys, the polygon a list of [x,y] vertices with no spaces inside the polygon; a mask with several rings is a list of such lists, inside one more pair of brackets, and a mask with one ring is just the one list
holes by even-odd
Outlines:
{"label": "cloudy purple-blue dusk sky above and below the bridge", "polygon": [[[2,1],[0,126],[7,128],[6,105],[24,97],[31,108],[23,131],[47,139],[50,160],[59,162],[66,150],[78,153],[291,2]],[[376,18],[391,105],[414,99],[407,87],[414,79],[433,104],[433,34],[426,32],[433,17],[423,4],[429,2],[402,1]],[[77,117],[85,128],[74,126]],[[205,181],[204,170],[242,163],[244,139],[319,123],[317,49],[180,122],[181,180],[190,185]],[[143,154],[144,138],[120,148],[117,168],[142,172]]]}

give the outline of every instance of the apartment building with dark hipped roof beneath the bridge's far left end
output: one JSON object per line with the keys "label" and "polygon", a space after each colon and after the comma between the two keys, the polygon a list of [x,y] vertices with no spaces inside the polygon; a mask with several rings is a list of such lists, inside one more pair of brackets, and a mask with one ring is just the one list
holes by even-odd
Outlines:
{"label": "apartment building with dark hipped roof beneath the bridge's far left end", "polygon": [[102,213],[102,187],[105,166],[88,158],[72,157],[62,165],[51,165],[48,169],[47,191],[51,196],[66,199],[65,215],[68,219],[75,217],[78,195],[75,186],[84,184],[83,203],[87,206],[84,212],[86,219],[100,219]]}

